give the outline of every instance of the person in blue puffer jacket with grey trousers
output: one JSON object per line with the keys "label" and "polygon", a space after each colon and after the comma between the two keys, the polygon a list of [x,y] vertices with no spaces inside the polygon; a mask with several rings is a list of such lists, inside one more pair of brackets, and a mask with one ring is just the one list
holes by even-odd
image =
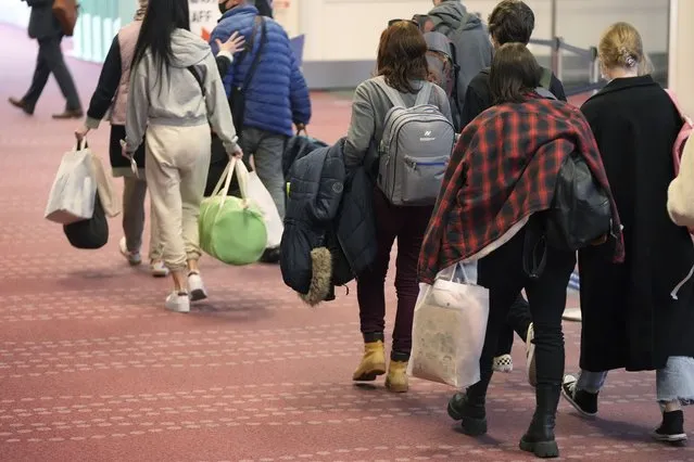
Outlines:
{"label": "person in blue puffer jacket with grey trousers", "polygon": [[[243,35],[247,43],[253,43],[248,55],[235,60],[223,76],[227,95],[230,95],[232,88],[243,85],[258,52],[261,31],[253,40],[250,36],[260,13],[253,0],[219,0],[219,10],[223,16],[210,37],[213,52],[217,52],[217,40],[226,42],[235,31]],[[265,17],[265,23],[267,41],[245,91],[243,126],[238,131],[247,164],[252,155],[255,171],[283,219],[282,152],[287,139],[293,136],[292,125],[299,130],[311,120],[311,99],[287,33],[269,17]]]}

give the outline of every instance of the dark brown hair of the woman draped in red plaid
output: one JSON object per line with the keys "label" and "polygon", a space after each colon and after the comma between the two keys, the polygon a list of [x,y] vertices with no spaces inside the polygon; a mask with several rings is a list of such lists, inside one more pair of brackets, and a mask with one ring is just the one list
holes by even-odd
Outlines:
{"label": "dark brown hair of the woman draped in red plaid", "polygon": [[541,79],[542,67],[523,43],[506,43],[494,53],[489,74],[494,104],[522,103]]}

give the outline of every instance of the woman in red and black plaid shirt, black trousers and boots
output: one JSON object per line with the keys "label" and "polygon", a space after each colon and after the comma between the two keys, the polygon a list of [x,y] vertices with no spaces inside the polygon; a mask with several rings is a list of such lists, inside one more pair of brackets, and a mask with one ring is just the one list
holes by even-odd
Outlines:
{"label": "woman in red and black plaid shirt, black trousers and boots", "polygon": [[[506,43],[497,50],[490,74],[496,105],[465,128],[455,147],[422,244],[419,277],[431,284],[441,270],[480,258],[480,270],[488,274],[490,313],[481,380],[449,405],[451,416],[472,436],[487,433],[484,401],[500,329],[508,307],[526,290],[534,322],[538,385],[535,412],[520,448],[554,458],[559,454],[554,425],[564,373],[561,313],[576,253],[547,247],[546,267],[535,279],[528,277],[525,264],[540,242],[535,223],[552,206],[567,156],[580,154],[608,193],[609,184],[581,112],[535,92],[541,73],[526,46]],[[619,215],[611,194],[610,202],[613,233],[620,236],[615,259],[621,260]]]}

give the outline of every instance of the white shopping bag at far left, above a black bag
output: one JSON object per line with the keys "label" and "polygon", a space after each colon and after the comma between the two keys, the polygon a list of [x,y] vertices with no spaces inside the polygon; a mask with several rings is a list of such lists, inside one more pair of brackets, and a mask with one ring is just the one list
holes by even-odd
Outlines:
{"label": "white shopping bag at far left, above a black bag", "polygon": [[97,197],[92,158],[85,141],[63,155],[48,196],[46,218],[61,224],[91,218]]}

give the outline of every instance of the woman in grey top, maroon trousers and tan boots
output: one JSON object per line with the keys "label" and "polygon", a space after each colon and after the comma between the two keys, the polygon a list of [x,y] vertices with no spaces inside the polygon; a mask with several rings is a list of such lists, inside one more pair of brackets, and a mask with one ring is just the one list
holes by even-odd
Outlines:
{"label": "woman in grey top, maroon trousers and tan boots", "polygon": [[[451,147],[455,132],[449,98],[440,87],[428,82],[427,68],[427,43],[417,28],[409,21],[400,21],[392,24],[383,31],[378,49],[378,77],[361,84],[352,103],[352,121],[344,144],[344,163],[349,168],[368,165],[374,157],[378,157],[376,163],[380,163],[378,177],[387,175],[383,159],[384,153],[379,149],[375,152],[375,146],[382,144],[387,126],[387,115],[393,114],[395,106],[393,100],[402,100],[401,106],[412,107],[413,104],[430,104],[440,111],[447,127],[450,127],[447,147],[438,153],[443,158],[437,168],[443,174],[445,162],[451,156]],[[394,94],[393,94],[394,93]],[[421,97],[426,101],[418,102]],[[431,107],[428,106],[428,107]],[[440,136],[441,140],[445,134],[436,133],[431,128],[422,127],[418,131],[418,137],[424,134],[425,143],[431,139],[437,142],[434,136]],[[433,134],[432,134],[433,133]],[[413,138],[418,138],[413,137]],[[445,152],[447,151],[447,152]],[[415,155],[417,153],[414,153]],[[394,159],[394,158],[393,158]],[[412,157],[413,168],[422,172],[428,167],[417,167]],[[392,163],[390,163],[392,164]],[[439,163],[431,162],[432,166]],[[404,169],[402,169],[404,171]],[[426,172],[425,172],[426,174]],[[400,178],[400,177],[399,177]],[[398,191],[402,194],[400,198],[407,195],[411,190],[424,191],[433,190],[436,194],[440,188],[440,181],[430,181],[428,184],[417,184],[412,181],[407,184],[398,184]],[[388,189],[388,188],[386,188]],[[415,192],[416,192],[415,191]],[[388,266],[390,264],[391,248],[395,239],[398,240],[398,258],[395,290],[398,292],[398,311],[395,316],[395,326],[393,329],[393,347],[391,351],[390,367],[386,386],[391,392],[407,392],[407,362],[412,349],[412,324],[415,303],[419,294],[417,284],[417,257],[421,246],[429,217],[433,209],[433,202],[420,206],[394,205],[391,194],[383,191],[383,188],[374,189],[374,215],[376,218],[376,259],[366,271],[356,274],[357,298],[359,303],[361,330],[364,336],[365,351],[359,365],[354,372],[353,380],[357,382],[374,381],[377,376],[386,373],[384,357],[384,283]]]}

